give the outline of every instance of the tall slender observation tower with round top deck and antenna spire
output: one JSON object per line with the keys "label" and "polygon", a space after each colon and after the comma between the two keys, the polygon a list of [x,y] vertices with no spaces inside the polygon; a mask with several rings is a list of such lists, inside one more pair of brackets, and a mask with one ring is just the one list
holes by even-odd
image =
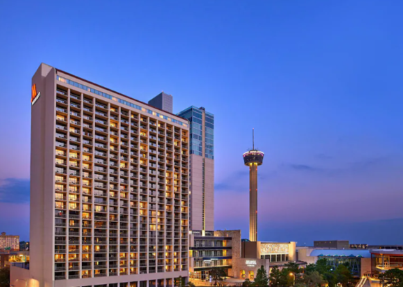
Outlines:
{"label": "tall slender observation tower with round top deck and antenna spire", "polygon": [[263,164],[264,153],[255,150],[255,129],[252,130],[252,150],[243,153],[243,162],[249,166],[249,240],[257,241],[257,166]]}

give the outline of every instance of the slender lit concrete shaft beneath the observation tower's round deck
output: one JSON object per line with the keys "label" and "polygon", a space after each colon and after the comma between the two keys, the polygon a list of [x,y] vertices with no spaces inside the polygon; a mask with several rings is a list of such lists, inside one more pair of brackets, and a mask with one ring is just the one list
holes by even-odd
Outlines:
{"label": "slender lit concrete shaft beneath the observation tower's round deck", "polygon": [[249,165],[249,240],[257,241],[257,163]]}

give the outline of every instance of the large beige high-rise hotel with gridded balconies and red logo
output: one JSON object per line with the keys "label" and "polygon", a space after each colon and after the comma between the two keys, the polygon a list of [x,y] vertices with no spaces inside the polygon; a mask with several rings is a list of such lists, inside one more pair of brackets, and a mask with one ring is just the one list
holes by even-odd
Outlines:
{"label": "large beige high-rise hotel with gridded balconies and red logo", "polygon": [[[35,287],[173,286],[186,279],[187,119],[46,64],[32,85]],[[206,151],[203,166],[212,161]],[[203,199],[204,207],[211,202]],[[213,230],[212,223],[210,214],[197,228]]]}

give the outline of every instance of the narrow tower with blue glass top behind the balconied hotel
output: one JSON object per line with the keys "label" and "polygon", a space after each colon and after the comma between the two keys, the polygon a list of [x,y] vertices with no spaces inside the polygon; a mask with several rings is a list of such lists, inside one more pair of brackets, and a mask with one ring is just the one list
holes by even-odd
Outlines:
{"label": "narrow tower with blue glass top behind the balconied hotel", "polygon": [[190,229],[203,235],[214,231],[214,115],[191,106],[178,116],[190,122]]}

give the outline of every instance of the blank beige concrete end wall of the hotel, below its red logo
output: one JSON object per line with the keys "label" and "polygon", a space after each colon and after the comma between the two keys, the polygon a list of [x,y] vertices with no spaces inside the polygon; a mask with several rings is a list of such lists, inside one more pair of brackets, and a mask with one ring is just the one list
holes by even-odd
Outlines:
{"label": "blank beige concrete end wall of the hotel, below its red logo", "polygon": [[53,286],[55,69],[41,64],[32,78],[40,98],[31,107],[31,276]]}

